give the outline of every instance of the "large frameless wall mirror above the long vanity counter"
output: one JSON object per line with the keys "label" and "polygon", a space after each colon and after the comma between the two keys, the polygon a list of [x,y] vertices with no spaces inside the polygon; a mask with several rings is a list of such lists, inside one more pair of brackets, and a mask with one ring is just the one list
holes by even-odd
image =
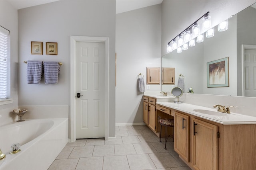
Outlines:
{"label": "large frameless wall mirror above the long vanity counter", "polygon": [[[256,97],[256,4],[229,18],[228,30],[218,32],[217,26],[214,37],[204,37],[182,53],[164,55],[162,67],[174,67],[176,78],[184,75],[185,93],[193,88],[198,94]],[[207,87],[207,63],[226,57],[229,86]],[[162,91],[175,86],[163,84]]]}

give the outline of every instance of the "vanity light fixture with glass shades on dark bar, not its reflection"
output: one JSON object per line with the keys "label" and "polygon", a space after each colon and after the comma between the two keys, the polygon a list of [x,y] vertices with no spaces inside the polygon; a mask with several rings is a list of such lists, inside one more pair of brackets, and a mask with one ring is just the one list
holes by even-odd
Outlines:
{"label": "vanity light fixture with glass shades on dark bar, not its reflection", "polygon": [[[195,46],[195,39],[197,38],[197,42],[203,42],[204,41],[204,34],[200,32],[200,25],[198,24],[198,21],[202,18],[203,19],[203,31],[206,31],[210,29],[211,27],[211,17],[209,16],[210,12],[206,12],[203,16],[201,16],[198,20],[196,20],[194,23],[192,23],[189,27],[184,29],[180,34],[178,34],[174,39],[168,42],[167,45],[167,53],[170,53],[177,49],[177,53],[181,53],[182,49],[187,50],[188,46],[193,47]],[[204,30],[206,29],[206,30]],[[192,33],[191,33],[192,31]],[[193,38],[193,39],[191,39]],[[177,39],[177,40],[176,40]],[[189,43],[188,43],[189,42]],[[188,43],[184,45],[184,43]],[[180,47],[180,48],[179,48]]]}

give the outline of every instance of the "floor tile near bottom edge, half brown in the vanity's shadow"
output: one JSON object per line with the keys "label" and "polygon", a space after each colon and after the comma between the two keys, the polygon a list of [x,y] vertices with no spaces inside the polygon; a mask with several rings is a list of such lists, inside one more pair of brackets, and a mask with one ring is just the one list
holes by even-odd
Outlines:
{"label": "floor tile near bottom edge, half brown in the vanity's shadow", "polygon": [[180,164],[168,152],[152,153],[149,156],[156,165],[156,168],[180,167]]}

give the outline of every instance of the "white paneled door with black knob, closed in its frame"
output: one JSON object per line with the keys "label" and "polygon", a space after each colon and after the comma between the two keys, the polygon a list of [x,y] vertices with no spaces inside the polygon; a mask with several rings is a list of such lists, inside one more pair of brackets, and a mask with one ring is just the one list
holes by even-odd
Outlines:
{"label": "white paneled door with black knob, closed in its frame", "polygon": [[104,43],[76,42],[76,139],[105,137],[104,48]]}

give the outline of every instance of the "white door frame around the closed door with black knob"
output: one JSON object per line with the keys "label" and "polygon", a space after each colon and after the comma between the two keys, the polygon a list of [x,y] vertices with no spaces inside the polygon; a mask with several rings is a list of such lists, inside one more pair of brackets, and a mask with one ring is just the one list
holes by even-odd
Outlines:
{"label": "white door frame around the closed door with black knob", "polygon": [[109,38],[70,36],[70,142],[76,141],[76,42],[104,43],[105,45],[105,140],[108,140]]}

